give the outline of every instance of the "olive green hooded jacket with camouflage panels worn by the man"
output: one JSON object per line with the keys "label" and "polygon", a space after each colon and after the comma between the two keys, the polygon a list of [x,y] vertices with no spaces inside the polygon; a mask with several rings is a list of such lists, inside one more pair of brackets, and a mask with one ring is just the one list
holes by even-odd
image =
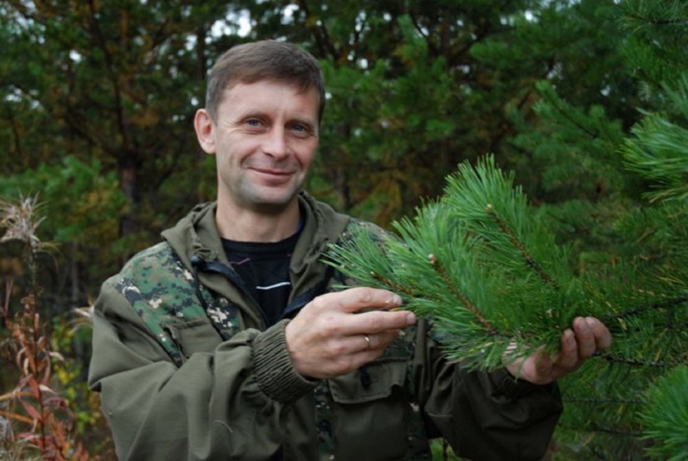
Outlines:
{"label": "olive green hooded jacket with camouflage panels worn by the man", "polygon": [[473,460],[537,460],[561,413],[555,386],[449,364],[419,321],[383,357],[331,380],[292,367],[284,328],[341,281],[321,263],[347,226],[371,226],[299,196],[286,319],[264,327],[229,268],[215,204],[197,206],[103,283],[89,385],[121,460],[423,460],[446,438]]}

